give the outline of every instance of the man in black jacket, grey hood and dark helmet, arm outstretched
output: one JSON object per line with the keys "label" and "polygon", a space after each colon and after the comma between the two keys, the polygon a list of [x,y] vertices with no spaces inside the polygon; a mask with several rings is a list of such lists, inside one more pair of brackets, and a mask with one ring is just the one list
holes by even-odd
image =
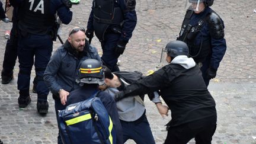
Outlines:
{"label": "man in black jacket, grey hood and dark helmet, arm outstretched", "polygon": [[127,86],[116,100],[160,90],[171,110],[165,143],[185,144],[195,137],[197,144],[210,144],[216,130],[215,100],[196,62],[187,55],[188,46],[183,41],[169,42],[162,51],[168,65]]}

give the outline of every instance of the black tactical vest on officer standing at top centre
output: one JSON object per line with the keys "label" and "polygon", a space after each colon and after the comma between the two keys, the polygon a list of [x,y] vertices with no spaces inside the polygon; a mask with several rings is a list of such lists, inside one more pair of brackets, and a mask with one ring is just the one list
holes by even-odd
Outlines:
{"label": "black tactical vest on officer standing at top centre", "polygon": [[94,31],[98,39],[104,39],[104,33],[111,24],[123,21],[123,11],[114,7],[114,0],[94,0]]}

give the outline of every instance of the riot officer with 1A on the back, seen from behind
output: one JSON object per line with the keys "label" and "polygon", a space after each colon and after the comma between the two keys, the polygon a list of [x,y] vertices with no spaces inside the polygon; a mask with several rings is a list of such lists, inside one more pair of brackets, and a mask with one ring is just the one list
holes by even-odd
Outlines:
{"label": "riot officer with 1A on the back, seen from behind", "polygon": [[[43,81],[43,73],[50,60],[53,46],[53,26],[55,14],[64,24],[72,20],[70,1],[18,0],[11,3],[19,7],[18,14],[18,73],[19,107],[27,107],[30,103],[30,74],[34,65],[37,76],[37,110],[40,114],[48,111],[47,95],[49,89]],[[35,56],[35,57],[34,57]]]}

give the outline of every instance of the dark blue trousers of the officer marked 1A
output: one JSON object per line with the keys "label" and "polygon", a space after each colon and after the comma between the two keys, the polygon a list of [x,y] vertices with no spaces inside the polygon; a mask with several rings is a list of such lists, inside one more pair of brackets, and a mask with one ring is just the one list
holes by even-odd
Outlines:
{"label": "dark blue trousers of the officer marked 1A", "polygon": [[39,36],[27,34],[18,40],[18,60],[20,71],[18,73],[18,89],[27,91],[30,88],[30,74],[35,66],[37,76],[37,97],[47,100],[49,89],[43,81],[43,73],[52,55],[52,38],[49,35]]}

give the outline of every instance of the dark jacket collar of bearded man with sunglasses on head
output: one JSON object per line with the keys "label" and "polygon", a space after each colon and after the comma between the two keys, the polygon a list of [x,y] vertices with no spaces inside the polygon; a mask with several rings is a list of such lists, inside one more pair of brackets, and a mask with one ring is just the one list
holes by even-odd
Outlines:
{"label": "dark jacket collar of bearded man with sunglasses on head", "polygon": [[65,43],[63,44],[64,49],[66,49],[71,55],[75,56],[78,59],[81,59],[83,56],[87,55],[87,53],[89,52],[89,42],[87,41],[87,39],[85,39],[85,46],[84,46],[84,50],[82,52],[78,52],[76,51],[76,49],[74,49],[71,46],[71,43],[69,43],[68,40],[65,41]]}

